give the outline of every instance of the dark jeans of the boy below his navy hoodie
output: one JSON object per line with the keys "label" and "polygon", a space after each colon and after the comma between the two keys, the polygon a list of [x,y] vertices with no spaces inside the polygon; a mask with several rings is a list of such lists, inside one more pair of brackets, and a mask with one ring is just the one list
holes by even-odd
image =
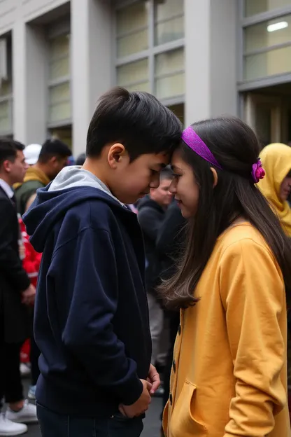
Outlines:
{"label": "dark jeans of the boy below his navy hoodie", "polygon": [[143,431],[140,417],[127,419],[119,412],[102,419],[59,415],[36,404],[42,437],[139,437]]}

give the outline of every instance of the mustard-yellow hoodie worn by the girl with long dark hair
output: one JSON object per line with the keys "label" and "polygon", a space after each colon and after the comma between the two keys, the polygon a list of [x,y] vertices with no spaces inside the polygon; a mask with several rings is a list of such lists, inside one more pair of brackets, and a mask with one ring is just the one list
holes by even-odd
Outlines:
{"label": "mustard-yellow hoodie worn by the girl with long dark hair", "polygon": [[218,238],[194,296],[181,312],[166,436],[290,437],[285,286],[250,223]]}

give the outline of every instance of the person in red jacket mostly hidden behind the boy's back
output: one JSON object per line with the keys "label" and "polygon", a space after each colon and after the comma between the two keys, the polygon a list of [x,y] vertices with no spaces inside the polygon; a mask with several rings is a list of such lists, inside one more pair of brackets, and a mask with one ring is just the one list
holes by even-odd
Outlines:
{"label": "person in red jacket mostly hidden behind the boy's back", "polygon": [[[27,202],[27,209],[29,209],[36,194],[32,195]],[[31,280],[31,284],[36,287],[38,271],[41,265],[41,254],[38,254],[32,247],[29,242],[29,236],[27,235],[27,230],[25,225],[21,219],[21,216],[18,218],[20,223],[20,233],[21,233],[21,241],[20,241],[20,258],[22,258],[22,265],[24,270],[27,272],[29,279]],[[36,342],[34,341],[34,335],[31,334],[30,338],[30,363],[31,363],[31,386],[29,387],[28,397],[30,399],[35,399],[35,390],[36,390],[36,382],[39,376],[38,369],[38,357],[39,357],[39,349],[36,346]]]}

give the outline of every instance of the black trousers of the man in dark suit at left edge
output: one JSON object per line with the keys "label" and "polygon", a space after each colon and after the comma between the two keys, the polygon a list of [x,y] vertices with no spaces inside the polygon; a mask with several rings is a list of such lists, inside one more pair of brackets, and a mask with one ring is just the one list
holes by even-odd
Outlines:
{"label": "black trousers of the man in dark suit at left edge", "polygon": [[6,343],[0,339],[0,410],[1,399],[7,403],[22,401],[20,348],[22,343]]}

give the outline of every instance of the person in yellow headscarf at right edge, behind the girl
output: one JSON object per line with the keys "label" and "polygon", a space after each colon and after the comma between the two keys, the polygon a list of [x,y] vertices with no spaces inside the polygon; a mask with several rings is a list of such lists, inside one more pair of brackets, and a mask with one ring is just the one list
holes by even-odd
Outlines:
{"label": "person in yellow headscarf at right edge, behind the girl", "polygon": [[291,147],[281,143],[269,144],[260,153],[266,177],[258,183],[264,197],[274,208],[285,233],[291,237]]}

